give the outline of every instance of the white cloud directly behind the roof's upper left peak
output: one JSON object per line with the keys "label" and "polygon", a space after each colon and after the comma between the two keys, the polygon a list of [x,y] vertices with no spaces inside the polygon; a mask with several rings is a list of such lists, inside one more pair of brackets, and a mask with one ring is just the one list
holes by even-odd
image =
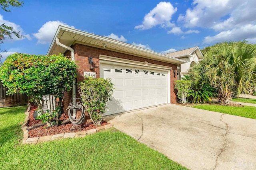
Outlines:
{"label": "white cloud directly behind the roof's upper left peak", "polygon": [[56,33],[56,30],[59,25],[63,25],[66,27],[75,28],[74,26],[69,26],[62,21],[48,21],[38,30],[37,33],[33,33],[34,37],[38,39],[38,44],[47,44],[52,42],[52,39]]}

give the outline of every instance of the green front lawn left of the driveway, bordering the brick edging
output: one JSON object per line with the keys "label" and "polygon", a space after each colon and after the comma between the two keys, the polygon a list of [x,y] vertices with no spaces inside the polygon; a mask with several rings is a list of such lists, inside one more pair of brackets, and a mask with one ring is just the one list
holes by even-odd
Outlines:
{"label": "green front lawn left of the driveway, bordering the brick edging", "polygon": [[112,128],[84,138],[22,145],[26,107],[0,108],[1,169],[185,170],[163,154]]}

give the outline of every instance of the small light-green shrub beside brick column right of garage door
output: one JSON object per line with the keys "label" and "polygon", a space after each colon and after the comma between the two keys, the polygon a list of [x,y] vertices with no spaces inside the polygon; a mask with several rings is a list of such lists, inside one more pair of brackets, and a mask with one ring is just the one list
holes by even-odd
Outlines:
{"label": "small light-green shrub beside brick column right of garage door", "polygon": [[185,105],[187,102],[188,92],[190,90],[191,81],[176,80],[174,88],[177,90],[178,99]]}

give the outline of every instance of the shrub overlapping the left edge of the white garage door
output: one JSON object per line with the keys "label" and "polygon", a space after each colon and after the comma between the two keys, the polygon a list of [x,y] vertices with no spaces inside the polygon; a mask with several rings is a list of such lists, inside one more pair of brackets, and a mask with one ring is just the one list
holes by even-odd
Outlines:
{"label": "shrub overlapping the left edge of the white garage door", "polygon": [[89,113],[94,125],[101,125],[106,104],[111,100],[114,84],[110,78],[86,77],[79,84],[79,93],[83,106]]}

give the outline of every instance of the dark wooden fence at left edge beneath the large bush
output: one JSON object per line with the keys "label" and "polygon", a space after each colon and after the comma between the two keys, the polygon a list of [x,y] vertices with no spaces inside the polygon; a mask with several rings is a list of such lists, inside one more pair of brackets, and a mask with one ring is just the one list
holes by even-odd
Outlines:
{"label": "dark wooden fence at left edge beneath the large bush", "polygon": [[28,104],[29,97],[25,94],[6,95],[6,88],[0,82],[0,107],[24,106]]}

